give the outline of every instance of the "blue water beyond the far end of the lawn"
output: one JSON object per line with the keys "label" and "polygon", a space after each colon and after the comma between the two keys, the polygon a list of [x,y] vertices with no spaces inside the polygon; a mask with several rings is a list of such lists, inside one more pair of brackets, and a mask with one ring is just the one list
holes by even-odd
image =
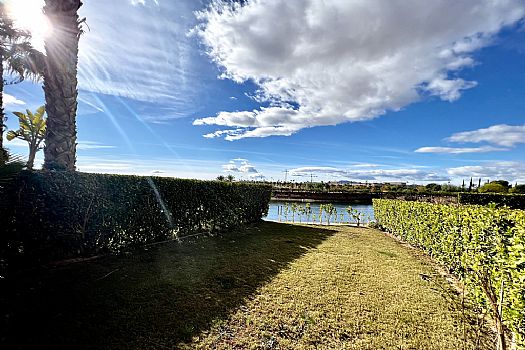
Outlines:
{"label": "blue water beyond the far end of the lawn", "polygon": [[[299,211],[296,210],[295,218],[293,218],[291,205],[295,203],[298,206],[304,208],[306,203],[300,202],[283,202],[283,201],[271,201],[270,208],[268,210],[268,216],[265,220],[268,221],[281,221],[281,222],[315,222],[319,223],[319,206],[323,203],[310,203],[312,214],[307,217],[306,215],[300,215]],[[286,217],[286,205],[288,205],[288,216]],[[337,219],[334,220],[334,216],[331,217],[330,222],[356,222],[356,219],[349,216],[346,208],[349,206],[357,210],[361,216],[361,223],[368,223],[374,220],[374,209],[371,204],[355,204],[355,203],[334,203],[333,206],[337,210]],[[279,209],[280,208],[280,209]],[[279,215],[281,212],[281,215]],[[343,216],[341,217],[341,214]],[[326,223],[326,213],[323,213],[323,223]]]}

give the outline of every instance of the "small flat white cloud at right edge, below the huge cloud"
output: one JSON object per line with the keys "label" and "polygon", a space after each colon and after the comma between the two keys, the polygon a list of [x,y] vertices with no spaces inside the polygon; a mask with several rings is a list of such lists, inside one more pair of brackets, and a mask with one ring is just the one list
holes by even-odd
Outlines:
{"label": "small flat white cloud at right edge, below the huge cloud", "polygon": [[465,131],[448,138],[451,142],[487,142],[498,146],[514,147],[525,143],[525,125],[493,125],[485,129]]}

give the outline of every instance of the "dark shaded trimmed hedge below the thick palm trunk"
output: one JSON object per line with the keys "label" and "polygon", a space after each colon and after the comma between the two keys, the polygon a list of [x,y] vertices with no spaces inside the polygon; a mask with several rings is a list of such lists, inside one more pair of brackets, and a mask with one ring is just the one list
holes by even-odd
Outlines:
{"label": "dark shaded trimmed hedge below the thick palm trunk", "polygon": [[6,264],[120,251],[266,215],[271,187],[218,181],[23,172],[0,188]]}

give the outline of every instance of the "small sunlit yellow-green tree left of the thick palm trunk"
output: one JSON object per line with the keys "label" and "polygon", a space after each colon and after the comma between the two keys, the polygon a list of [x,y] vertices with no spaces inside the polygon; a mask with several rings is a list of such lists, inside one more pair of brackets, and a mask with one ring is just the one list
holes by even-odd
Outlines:
{"label": "small sunlit yellow-green tree left of the thick palm trunk", "polygon": [[16,139],[24,140],[29,145],[29,158],[27,160],[27,169],[33,170],[36,153],[42,149],[41,143],[46,133],[45,107],[42,106],[33,114],[29,109],[26,114],[13,112],[18,117],[18,130],[10,130],[7,133],[7,140]]}

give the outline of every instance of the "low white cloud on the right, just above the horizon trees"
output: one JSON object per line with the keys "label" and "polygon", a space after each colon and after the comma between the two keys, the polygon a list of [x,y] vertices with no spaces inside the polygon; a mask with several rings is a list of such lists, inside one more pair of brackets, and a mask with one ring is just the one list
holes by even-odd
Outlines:
{"label": "low white cloud on the right, just above the horizon trees", "polygon": [[482,177],[492,180],[525,181],[525,164],[515,161],[487,162],[448,169],[448,174],[459,177]]}

